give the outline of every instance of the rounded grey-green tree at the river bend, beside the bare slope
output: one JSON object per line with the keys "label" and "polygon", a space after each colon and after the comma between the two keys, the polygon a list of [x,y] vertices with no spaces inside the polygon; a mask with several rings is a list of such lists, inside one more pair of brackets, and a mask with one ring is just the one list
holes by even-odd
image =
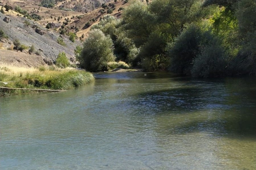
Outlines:
{"label": "rounded grey-green tree at the river bend, beside the bare slope", "polygon": [[81,52],[81,66],[89,71],[106,71],[110,61],[115,61],[110,36],[105,36],[99,29],[90,31]]}

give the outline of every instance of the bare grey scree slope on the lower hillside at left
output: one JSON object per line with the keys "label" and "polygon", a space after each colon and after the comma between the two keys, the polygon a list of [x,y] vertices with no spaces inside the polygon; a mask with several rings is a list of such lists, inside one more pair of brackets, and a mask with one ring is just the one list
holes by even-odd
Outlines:
{"label": "bare grey scree slope on the lower hillside at left", "polygon": [[[56,32],[52,32],[46,28],[41,27],[36,22],[19,16],[8,16],[10,22],[6,23],[3,19],[6,15],[0,13],[0,29],[9,36],[11,41],[19,39],[21,44],[31,46],[34,45],[36,49],[41,49],[41,57],[47,60],[55,61],[59,52],[64,51],[69,58],[74,59],[75,46],[81,45],[81,42],[71,42],[67,36],[62,36],[67,46],[62,46],[57,43],[57,38],[60,36]],[[24,21],[30,23],[29,26],[24,24]],[[36,32],[36,28],[43,32],[40,35]]]}

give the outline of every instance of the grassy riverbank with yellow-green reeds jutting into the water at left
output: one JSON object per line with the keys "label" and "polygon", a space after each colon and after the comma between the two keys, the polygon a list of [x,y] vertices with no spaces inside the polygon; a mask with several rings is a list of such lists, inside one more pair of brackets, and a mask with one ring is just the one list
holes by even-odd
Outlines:
{"label": "grassy riverbank with yellow-green reeds jutting into the water at left", "polygon": [[[68,90],[94,81],[89,72],[74,68],[56,67],[14,67],[0,65],[0,87],[22,89]],[[0,88],[0,96],[31,93],[30,90],[9,90]],[[34,92],[34,91],[33,91]]]}

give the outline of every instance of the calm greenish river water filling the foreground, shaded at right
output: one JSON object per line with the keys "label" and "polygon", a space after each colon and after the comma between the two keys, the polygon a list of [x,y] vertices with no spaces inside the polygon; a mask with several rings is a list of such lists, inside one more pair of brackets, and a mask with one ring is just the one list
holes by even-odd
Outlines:
{"label": "calm greenish river water filling the foreground, shaded at right", "polygon": [[0,170],[255,170],[256,78],[102,73],[0,98]]}

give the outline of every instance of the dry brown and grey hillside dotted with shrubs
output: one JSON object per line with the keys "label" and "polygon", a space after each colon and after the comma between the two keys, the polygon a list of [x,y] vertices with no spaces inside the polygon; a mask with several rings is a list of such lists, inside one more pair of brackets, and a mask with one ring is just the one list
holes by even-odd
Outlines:
{"label": "dry brown and grey hillside dotted with shrubs", "polygon": [[[5,11],[5,14],[0,13],[0,29],[9,36],[9,39],[2,39],[0,42],[2,44],[2,47],[0,48],[0,55],[3,56],[5,53],[4,51],[7,51],[7,49],[13,45],[12,42],[15,39],[19,39],[21,44],[26,46],[34,45],[37,50],[40,49],[41,59],[38,60],[37,63],[41,63],[43,59],[54,62],[59,52],[62,51],[65,51],[68,58],[70,58],[70,61],[73,62],[75,46],[82,45],[80,40],[83,39],[81,36],[84,34],[84,38],[86,38],[87,32],[90,30],[90,26],[98,23],[102,16],[107,15],[107,9],[102,11],[102,3],[107,1],[110,0],[65,0],[57,1],[53,8],[46,8],[39,6],[41,0],[0,0],[0,8],[5,4],[13,7],[13,10],[9,10],[9,12]],[[121,17],[122,11],[118,12],[118,9],[125,9],[130,5],[130,2],[126,3],[125,0],[117,0],[116,2],[111,1],[105,4],[108,8],[112,9],[113,12],[111,15],[119,18]],[[23,17],[22,14],[15,12],[14,9],[17,5],[20,6],[22,10],[26,10],[29,15],[36,14],[40,16],[41,19],[30,20]],[[89,5],[91,8],[86,7]],[[83,10],[78,8],[78,6]],[[3,9],[5,10],[5,8]],[[65,9],[71,9],[73,11],[67,11]],[[3,21],[6,16],[10,17],[9,23]],[[29,23],[29,25],[24,22]],[[53,23],[54,27],[46,29],[47,23]],[[71,42],[67,35],[59,34],[61,27],[67,31],[66,34],[69,32],[76,33],[78,38],[75,43]],[[44,35],[36,33],[35,30],[37,28],[43,31]],[[57,43],[57,38],[59,36],[64,39],[67,46],[62,46]],[[29,66],[37,65],[31,64],[35,62],[29,62],[26,60],[25,56],[29,55],[28,50],[25,50],[24,52],[13,51],[11,53],[19,57],[22,57],[24,54],[24,58],[19,58],[19,61],[22,63],[18,61],[18,64],[25,64]],[[12,56],[11,53],[8,51],[8,56]],[[3,62],[3,60],[4,58],[0,56],[0,62]],[[10,61],[15,62],[17,60],[6,60],[6,62]]]}

